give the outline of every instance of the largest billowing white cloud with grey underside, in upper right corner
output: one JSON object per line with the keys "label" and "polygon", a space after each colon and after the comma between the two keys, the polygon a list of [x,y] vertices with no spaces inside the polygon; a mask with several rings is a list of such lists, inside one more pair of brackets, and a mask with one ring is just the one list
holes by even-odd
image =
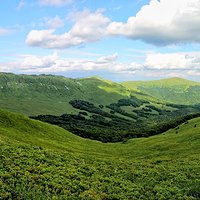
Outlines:
{"label": "largest billowing white cloud with grey underside, in upper right corner", "polygon": [[200,42],[199,0],[151,0],[126,23],[112,22],[108,35],[155,45]]}

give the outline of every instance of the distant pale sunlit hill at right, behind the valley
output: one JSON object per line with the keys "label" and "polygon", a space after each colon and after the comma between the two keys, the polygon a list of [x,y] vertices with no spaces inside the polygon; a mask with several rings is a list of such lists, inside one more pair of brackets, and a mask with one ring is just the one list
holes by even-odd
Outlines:
{"label": "distant pale sunlit hill at right, behind the valley", "polygon": [[182,78],[128,81],[123,82],[122,85],[171,103],[196,104],[200,102],[200,83]]}

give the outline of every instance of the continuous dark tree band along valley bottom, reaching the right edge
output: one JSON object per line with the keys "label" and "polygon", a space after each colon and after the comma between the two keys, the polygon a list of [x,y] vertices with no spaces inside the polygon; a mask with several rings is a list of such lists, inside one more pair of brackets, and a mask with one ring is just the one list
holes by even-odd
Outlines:
{"label": "continuous dark tree band along valley bottom, reaching the right edge", "polygon": [[102,142],[120,142],[130,138],[149,137],[175,128],[195,117],[200,113],[176,117],[166,122],[150,126],[142,121],[131,123],[130,121],[106,120],[99,115],[92,115],[86,119],[82,115],[64,114],[61,116],[39,115],[34,119],[58,125],[70,132],[84,138],[99,140]]}

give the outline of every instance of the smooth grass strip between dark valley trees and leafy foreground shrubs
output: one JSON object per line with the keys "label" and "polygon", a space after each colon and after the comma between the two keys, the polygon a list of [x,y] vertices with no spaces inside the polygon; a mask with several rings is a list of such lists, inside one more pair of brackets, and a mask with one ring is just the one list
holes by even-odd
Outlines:
{"label": "smooth grass strip between dark valley trees and leafy foreground shrubs", "polygon": [[[191,152],[188,151],[189,149],[193,153],[198,153],[200,148],[199,118],[191,120],[187,125],[181,125],[178,134],[175,130],[169,130],[161,135],[149,138],[131,139],[125,144],[105,144],[80,138],[62,128],[31,120],[23,115],[13,114],[3,110],[0,110],[0,115],[0,138],[1,141],[7,141],[9,143],[19,142],[43,146],[58,151],[89,152],[90,155],[99,154],[105,157],[123,156],[133,158],[140,158],[140,156],[148,157],[153,154],[156,155],[157,153],[159,155],[170,153],[171,156],[176,157],[177,155],[174,155],[174,149],[184,150],[181,153],[184,153],[183,156],[185,156],[185,154],[190,155]],[[194,124],[197,124],[196,128]],[[159,151],[156,152],[154,151],[155,149]]]}

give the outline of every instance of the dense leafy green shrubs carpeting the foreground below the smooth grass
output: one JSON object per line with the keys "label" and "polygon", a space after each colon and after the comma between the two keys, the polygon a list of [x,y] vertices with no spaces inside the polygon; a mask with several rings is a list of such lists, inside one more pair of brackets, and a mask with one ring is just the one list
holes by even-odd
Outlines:
{"label": "dense leafy green shrubs carpeting the foreground below the smooth grass", "polygon": [[[99,160],[1,145],[3,199],[198,199],[198,160]],[[170,164],[169,164],[170,163]],[[192,174],[191,174],[192,172]]]}

